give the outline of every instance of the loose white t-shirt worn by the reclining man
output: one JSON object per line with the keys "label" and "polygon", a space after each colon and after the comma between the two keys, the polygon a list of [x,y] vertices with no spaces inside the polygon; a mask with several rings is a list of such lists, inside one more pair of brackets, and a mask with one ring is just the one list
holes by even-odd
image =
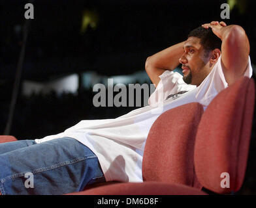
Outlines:
{"label": "loose white t-shirt worn by the reclining man", "polygon": [[[167,70],[159,76],[161,80],[148,100],[150,105],[114,119],[82,120],[63,133],[36,139],[35,142],[72,137],[97,155],[106,181],[141,182],[142,156],[153,122],[166,110],[186,103],[199,102],[205,109],[227,87],[220,60],[198,87],[185,84],[182,75]],[[244,75],[252,75],[249,58]],[[178,94],[181,91],[188,92]],[[170,98],[167,99],[168,96]]]}

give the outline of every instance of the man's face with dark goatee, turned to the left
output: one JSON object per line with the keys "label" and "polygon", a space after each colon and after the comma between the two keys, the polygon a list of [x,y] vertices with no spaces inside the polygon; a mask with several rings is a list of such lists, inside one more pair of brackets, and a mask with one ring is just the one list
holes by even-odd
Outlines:
{"label": "man's face with dark goatee, turned to the left", "polygon": [[[200,44],[200,39],[189,37],[184,43],[184,53],[180,57],[182,70],[184,73],[184,81],[187,84],[197,85],[204,80],[210,73],[208,62],[210,53],[206,53],[203,46]],[[207,64],[207,65],[206,65]]]}

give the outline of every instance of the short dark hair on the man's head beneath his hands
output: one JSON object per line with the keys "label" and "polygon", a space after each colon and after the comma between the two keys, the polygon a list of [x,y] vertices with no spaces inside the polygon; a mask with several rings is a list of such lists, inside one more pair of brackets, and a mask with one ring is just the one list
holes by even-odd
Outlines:
{"label": "short dark hair on the man's head beneath his hands", "polygon": [[196,29],[193,29],[193,31],[189,32],[187,38],[191,36],[200,38],[200,44],[206,51],[212,51],[216,48],[221,50],[221,39],[212,32],[211,28],[205,29],[202,26],[197,27]]}

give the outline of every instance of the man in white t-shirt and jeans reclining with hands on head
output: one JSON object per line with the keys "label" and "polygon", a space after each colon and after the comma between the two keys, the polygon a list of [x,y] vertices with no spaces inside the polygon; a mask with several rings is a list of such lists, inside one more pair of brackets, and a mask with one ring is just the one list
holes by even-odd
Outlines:
{"label": "man in white t-shirt and jeans reclining with hands on head", "polygon": [[[172,72],[178,64],[184,77]],[[251,77],[248,37],[238,25],[212,21],[148,57],[146,72],[156,86],[146,107],[114,119],[82,120],[57,135],[0,144],[1,194],[65,194],[100,181],[141,182],[144,145],[160,114],[191,102],[206,108],[228,85]],[[32,174],[31,186],[26,180]]]}

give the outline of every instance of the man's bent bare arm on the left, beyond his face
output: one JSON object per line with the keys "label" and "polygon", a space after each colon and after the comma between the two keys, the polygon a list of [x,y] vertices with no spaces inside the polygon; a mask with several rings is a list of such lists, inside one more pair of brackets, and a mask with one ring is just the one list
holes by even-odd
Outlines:
{"label": "man's bent bare arm on the left, beyond his face", "polygon": [[161,75],[165,70],[174,70],[179,64],[179,59],[184,53],[184,42],[172,45],[163,51],[148,57],[145,64],[146,72],[155,87],[157,87]]}

